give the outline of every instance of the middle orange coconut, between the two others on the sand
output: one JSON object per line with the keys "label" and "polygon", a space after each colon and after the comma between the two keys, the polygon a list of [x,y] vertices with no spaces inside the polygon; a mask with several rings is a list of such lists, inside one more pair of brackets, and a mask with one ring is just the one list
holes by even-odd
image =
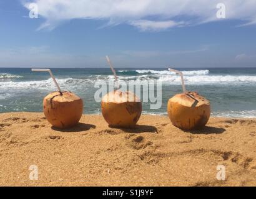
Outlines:
{"label": "middle orange coconut, between the two others on the sand", "polygon": [[133,127],[140,118],[142,103],[134,93],[115,90],[102,98],[101,110],[110,126]]}

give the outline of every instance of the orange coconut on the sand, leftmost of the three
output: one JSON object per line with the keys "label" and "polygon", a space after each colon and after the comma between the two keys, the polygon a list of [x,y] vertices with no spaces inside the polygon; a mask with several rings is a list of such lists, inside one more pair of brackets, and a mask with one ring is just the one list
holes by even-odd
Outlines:
{"label": "orange coconut on the sand, leftmost of the three", "polygon": [[72,92],[52,92],[44,98],[44,114],[52,126],[66,129],[79,123],[83,103],[79,96]]}

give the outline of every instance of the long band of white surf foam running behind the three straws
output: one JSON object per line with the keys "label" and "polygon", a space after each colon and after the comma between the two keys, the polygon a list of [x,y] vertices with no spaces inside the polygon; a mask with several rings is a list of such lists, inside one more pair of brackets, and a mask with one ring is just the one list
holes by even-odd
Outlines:
{"label": "long band of white surf foam running behind the three straws", "polygon": [[[87,85],[94,85],[98,80],[114,80],[113,75],[95,75],[90,78],[63,78],[57,79],[57,82],[63,89],[82,88]],[[179,75],[134,75],[134,76],[119,76],[121,81],[130,80],[160,80],[163,85],[179,85]],[[194,75],[184,76],[186,85],[217,85],[217,84],[252,84],[256,83],[256,76],[250,75]],[[38,89],[38,90],[55,90],[55,85],[51,78],[48,80],[37,81],[0,81],[0,89]]]}

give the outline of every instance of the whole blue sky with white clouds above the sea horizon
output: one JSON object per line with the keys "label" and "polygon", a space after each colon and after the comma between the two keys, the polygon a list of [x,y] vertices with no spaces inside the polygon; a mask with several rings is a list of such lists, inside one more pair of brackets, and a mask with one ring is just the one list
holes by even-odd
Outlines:
{"label": "whole blue sky with white clouds above the sea horizon", "polygon": [[255,0],[0,0],[0,67],[256,67],[255,35]]}

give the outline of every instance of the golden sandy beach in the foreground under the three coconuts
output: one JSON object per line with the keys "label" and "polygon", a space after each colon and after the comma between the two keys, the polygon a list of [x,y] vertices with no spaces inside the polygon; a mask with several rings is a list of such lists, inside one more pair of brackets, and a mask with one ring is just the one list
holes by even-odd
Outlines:
{"label": "golden sandy beach in the foreground under the three coconuts", "polygon": [[[59,131],[42,113],[2,113],[0,165],[1,186],[256,186],[256,119],[210,118],[185,132],[167,116],[115,129],[83,115]],[[38,180],[29,178],[31,165]]]}

